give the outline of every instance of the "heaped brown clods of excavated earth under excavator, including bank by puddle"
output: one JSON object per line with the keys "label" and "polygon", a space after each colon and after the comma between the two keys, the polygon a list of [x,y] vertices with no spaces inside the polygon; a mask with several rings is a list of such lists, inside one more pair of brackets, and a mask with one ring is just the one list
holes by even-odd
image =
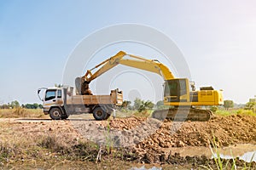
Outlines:
{"label": "heaped brown clods of excavated earth under excavator, including bank by puddle", "polygon": [[[172,148],[256,144],[256,116],[214,116],[208,122],[172,122],[146,118],[116,118],[108,122],[75,123],[74,127],[87,139],[98,144],[112,141],[124,146],[145,163],[197,165],[214,164],[207,156],[180,156]],[[106,133],[107,132],[107,133]],[[95,134],[95,135],[94,135]],[[108,140],[109,139],[109,140]],[[214,143],[214,144],[213,144]],[[166,149],[168,151],[166,152]],[[237,164],[243,161],[236,161]],[[255,162],[253,162],[255,166]]]}

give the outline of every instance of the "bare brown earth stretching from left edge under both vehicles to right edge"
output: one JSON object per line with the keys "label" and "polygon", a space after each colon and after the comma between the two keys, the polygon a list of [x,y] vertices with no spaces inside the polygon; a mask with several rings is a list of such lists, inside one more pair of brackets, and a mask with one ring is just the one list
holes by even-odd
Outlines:
{"label": "bare brown earth stretching from left edge under both vehicles to right edge", "polygon": [[[59,139],[66,140],[66,144],[78,139],[90,139],[102,146],[125,148],[123,157],[126,157],[126,161],[177,165],[189,163],[195,167],[214,167],[214,161],[207,156],[181,156],[173,149],[209,147],[214,142],[219,148],[231,144],[256,144],[256,116],[214,116],[208,122],[160,122],[135,116],[106,121],[70,117],[67,121],[9,120],[4,126],[0,128],[0,139],[9,140],[13,135],[9,132],[15,132],[17,136],[26,133],[27,137],[57,134]],[[236,164],[243,166],[244,161],[237,160]],[[256,163],[253,162],[251,166],[256,168]]]}

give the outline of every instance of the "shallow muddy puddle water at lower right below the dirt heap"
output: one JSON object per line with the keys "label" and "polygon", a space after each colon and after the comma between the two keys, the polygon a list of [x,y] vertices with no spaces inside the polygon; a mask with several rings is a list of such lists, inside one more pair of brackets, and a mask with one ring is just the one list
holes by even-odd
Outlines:
{"label": "shallow muddy puddle water at lower right below the dirt heap", "polygon": [[[207,156],[212,158],[216,156],[216,150],[212,148],[214,154],[208,147],[202,146],[187,146],[182,148],[166,149],[165,151],[171,151],[172,154],[179,153],[180,156]],[[239,157],[243,161],[256,161],[256,144],[236,144],[230,145],[229,147],[219,148],[218,153],[220,157],[231,159]]]}

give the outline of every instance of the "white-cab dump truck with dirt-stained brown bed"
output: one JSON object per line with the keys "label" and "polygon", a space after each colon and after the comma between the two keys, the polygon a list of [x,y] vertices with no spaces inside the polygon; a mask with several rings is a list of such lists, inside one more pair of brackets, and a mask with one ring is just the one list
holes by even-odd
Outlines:
{"label": "white-cab dump truck with dirt-stained brown bed", "polygon": [[[43,97],[39,95],[41,92]],[[44,114],[53,120],[67,119],[70,115],[92,113],[96,120],[105,120],[123,103],[123,92],[111,90],[109,95],[79,95],[73,87],[39,88]]]}

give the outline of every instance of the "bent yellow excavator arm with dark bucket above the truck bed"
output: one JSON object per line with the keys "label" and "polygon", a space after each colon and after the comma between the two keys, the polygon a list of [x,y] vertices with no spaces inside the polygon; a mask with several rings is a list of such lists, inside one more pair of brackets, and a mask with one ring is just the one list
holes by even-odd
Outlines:
{"label": "bent yellow excavator arm with dark bucket above the truck bed", "polygon": [[[168,67],[155,59],[144,59],[136,55],[126,54],[123,51],[119,51],[118,54],[113,55],[111,58],[104,60],[99,65],[86,71],[83,77],[78,77],[76,79],[76,87],[80,89],[79,91],[81,92],[79,94],[91,94],[89,83],[105,72],[111,70],[116,65],[127,65],[144,71],[154,72],[165,80],[174,78]],[[96,69],[98,70],[93,72]]]}

